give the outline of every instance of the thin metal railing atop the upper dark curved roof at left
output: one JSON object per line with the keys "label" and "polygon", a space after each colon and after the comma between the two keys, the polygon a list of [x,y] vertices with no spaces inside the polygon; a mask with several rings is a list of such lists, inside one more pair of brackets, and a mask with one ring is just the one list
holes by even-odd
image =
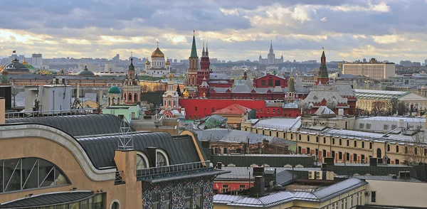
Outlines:
{"label": "thin metal railing atop the upper dark curved roof at left", "polygon": [[75,114],[93,114],[93,109],[62,109],[62,110],[45,110],[45,111],[26,111],[26,112],[6,112],[7,118],[21,118],[21,117],[41,117],[46,115],[61,116],[61,115],[75,115]]}

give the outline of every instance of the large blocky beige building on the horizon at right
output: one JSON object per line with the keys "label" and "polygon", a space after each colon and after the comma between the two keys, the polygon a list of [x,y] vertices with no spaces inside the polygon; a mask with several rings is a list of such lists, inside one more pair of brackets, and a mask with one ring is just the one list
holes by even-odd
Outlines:
{"label": "large blocky beige building on the horizon at right", "polygon": [[377,63],[374,58],[369,63],[342,63],[342,74],[364,75],[374,80],[386,79],[394,76],[394,63]]}

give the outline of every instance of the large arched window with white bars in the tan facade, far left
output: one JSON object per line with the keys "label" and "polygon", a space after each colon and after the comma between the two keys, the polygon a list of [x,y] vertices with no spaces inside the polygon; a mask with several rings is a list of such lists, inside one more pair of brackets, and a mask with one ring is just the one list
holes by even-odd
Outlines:
{"label": "large arched window with white bars in the tan facade, far left", "polygon": [[0,193],[70,183],[60,168],[38,158],[0,160],[0,171]]}

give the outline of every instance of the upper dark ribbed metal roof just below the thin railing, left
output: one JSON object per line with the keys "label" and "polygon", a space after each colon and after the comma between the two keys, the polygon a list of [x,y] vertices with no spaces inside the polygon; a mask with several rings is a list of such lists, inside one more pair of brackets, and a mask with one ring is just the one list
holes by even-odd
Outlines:
{"label": "upper dark ribbed metal roof just below the thin railing, left", "polygon": [[[51,117],[26,117],[6,119],[6,124],[45,124],[67,132],[71,136],[120,133],[122,119],[112,114],[85,114]],[[135,132],[135,129],[132,129]]]}

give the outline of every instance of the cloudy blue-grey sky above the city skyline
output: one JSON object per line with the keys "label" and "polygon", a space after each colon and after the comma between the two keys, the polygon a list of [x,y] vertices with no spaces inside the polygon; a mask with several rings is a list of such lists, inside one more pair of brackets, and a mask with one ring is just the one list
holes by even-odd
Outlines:
{"label": "cloudy blue-grey sky above the city skyline", "polygon": [[193,30],[211,58],[427,58],[427,0],[2,0],[0,57],[188,58]]}

